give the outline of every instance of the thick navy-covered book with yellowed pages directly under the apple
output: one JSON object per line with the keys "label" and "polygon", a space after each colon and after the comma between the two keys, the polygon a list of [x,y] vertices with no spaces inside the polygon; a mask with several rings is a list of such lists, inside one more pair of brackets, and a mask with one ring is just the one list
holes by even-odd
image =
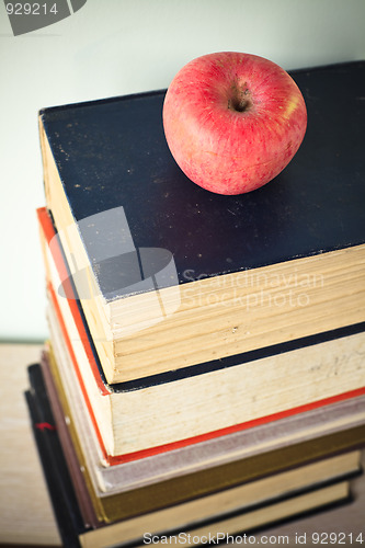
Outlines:
{"label": "thick navy-covered book with yellowed pages directly under the apple", "polygon": [[[209,193],[174,162],[164,91],[41,111],[46,204],[109,383],[365,319],[365,61],[292,72],[305,140],[262,189]],[[72,294],[73,295],[73,294]]]}

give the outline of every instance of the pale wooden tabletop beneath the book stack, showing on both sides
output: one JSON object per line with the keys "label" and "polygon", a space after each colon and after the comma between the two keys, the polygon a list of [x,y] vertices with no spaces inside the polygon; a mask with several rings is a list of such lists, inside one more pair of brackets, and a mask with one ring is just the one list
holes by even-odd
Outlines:
{"label": "pale wooden tabletop beneath the book stack, showing on both sides", "polygon": [[[0,345],[0,545],[60,546],[23,396],[26,366],[38,361],[39,352],[36,344]],[[306,546],[311,546],[312,533],[362,532],[365,540],[364,475],[352,481],[352,492],[351,504],[270,528],[262,535],[288,535],[289,546],[295,546],[296,534],[304,533]]]}

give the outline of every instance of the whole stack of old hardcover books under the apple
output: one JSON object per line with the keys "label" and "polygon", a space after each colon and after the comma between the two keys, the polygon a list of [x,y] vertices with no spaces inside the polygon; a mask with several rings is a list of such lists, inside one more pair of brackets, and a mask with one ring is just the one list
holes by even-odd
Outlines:
{"label": "whole stack of old hardcover books under the apple", "polygon": [[293,72],[305,141],[241,196],[180,171],[164,91],[41,112],[49,341],[26,398],[65,546],[227,541],[349,500],[365,444],[364,73]]}

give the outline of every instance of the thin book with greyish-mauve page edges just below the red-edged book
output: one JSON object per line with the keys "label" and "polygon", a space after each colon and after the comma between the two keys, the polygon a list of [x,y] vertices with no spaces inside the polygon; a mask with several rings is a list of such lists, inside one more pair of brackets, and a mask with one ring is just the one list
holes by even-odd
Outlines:
{"label": "thin book with greyish-mauve page edges just below the red-edged book", "polygon": [[[77,461],[81,464],[81,467],[78,467],[88,475],[88,482],[98,496],[137,489],[172,476],[199,472],[219,465],[258,457],[263,453],[269,458],[273,452],[285,447],[308,441],[316,443],[315,441],[322,436],[344,433],[365,424],[365,397],[362,396],[148,458],[109,463],[101,450],[82,398],[77,396],[77,390],[69,392],[69,398],[66,397],[50,349],[43,352],[41,364],[61,441],[65,436],[62,445],[72,447],[71,453],[77,453]],[[332,449],[327,447],[323,456],[329,450]]]}

